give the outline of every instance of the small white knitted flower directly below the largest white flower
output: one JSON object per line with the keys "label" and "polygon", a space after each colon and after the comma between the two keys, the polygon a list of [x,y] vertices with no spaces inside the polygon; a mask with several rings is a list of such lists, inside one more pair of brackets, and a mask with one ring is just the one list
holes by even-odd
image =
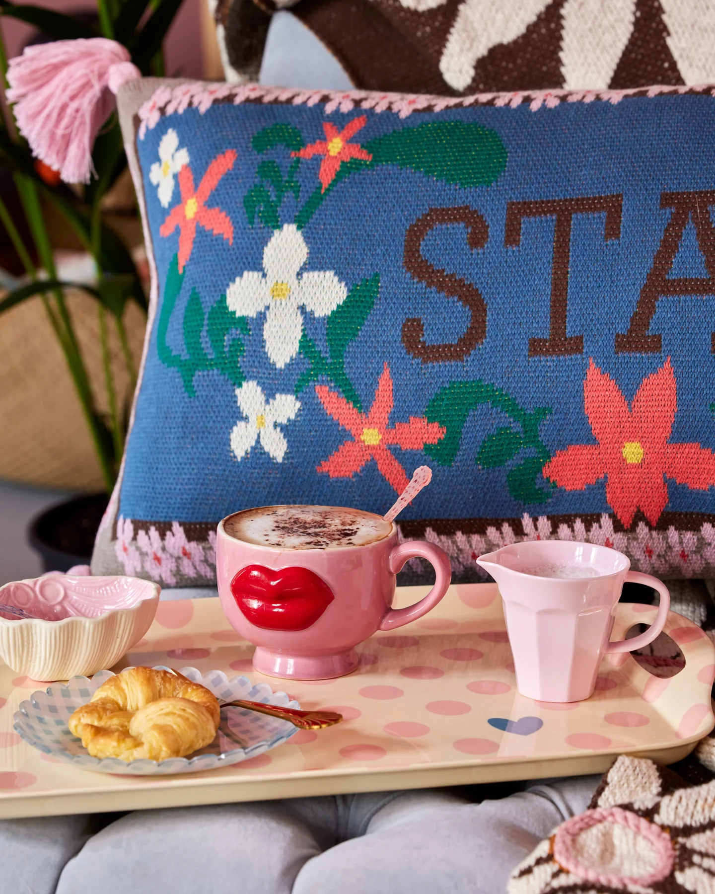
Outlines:
{"label": "small white knitted flower directly below the largest white flower", "polygon": [[242,460],[260,439],[265,452],[276,462],[282,462],[288,443],[276,426],[285,425],[296,417],[300,401],[292,394],[276,394],[266,403],[265,394],[257,382],[244,382],[236,389],[236,398],[246,417],[246,421],[237,422],[231,432],[231,450],[236,459]]}

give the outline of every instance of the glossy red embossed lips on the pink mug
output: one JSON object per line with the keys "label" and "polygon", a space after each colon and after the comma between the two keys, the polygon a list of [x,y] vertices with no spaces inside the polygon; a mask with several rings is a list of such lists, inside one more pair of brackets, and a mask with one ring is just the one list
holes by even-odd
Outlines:
{"label": "glossy red embossed lips on the pink mug", "polygon": [[240,611],[265,630],[305,630],[335,598],[331,588],[307,568],[273,570],[248,565],[231,580]]}

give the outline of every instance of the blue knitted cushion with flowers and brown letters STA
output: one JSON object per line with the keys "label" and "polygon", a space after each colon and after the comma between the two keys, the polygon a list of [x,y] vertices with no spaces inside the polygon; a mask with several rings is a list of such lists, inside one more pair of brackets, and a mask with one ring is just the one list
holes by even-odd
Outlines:
{"label": "blue knitted cushion with flowers and brown letters STA", "polygon": [[154,280],[97,573],[214,580],[232,511],[383,512],[715,574],[715,98],[120,95]]}

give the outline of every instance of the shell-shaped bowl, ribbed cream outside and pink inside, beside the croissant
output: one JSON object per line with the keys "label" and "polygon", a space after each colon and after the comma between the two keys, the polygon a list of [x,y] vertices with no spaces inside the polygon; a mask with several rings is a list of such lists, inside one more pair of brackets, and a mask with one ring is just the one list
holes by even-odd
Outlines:
{"label": "shell-shaped bowl, ribbed cream outside and pink inside, beside the croissant", "polygon": [[140,578],[49,575],[0,587],[0,603],[35,615],[0,615],[0,658],[31,679],[70,679],[111,668],[154,620],[161,587]]}

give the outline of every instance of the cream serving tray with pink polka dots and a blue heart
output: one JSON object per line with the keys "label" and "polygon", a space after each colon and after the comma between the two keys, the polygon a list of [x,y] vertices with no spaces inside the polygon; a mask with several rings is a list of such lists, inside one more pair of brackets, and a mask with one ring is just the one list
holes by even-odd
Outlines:
{"label": "cream serving tray with pink polka dots and a blue heart", "polygon": [[[401,588],[396,605],[425,592]],[[619,605],[612,638],[654,615],[650,606]],[[604,659],[588,701],[548,704],[517,693],[493,584],[451,586],[425,618],[359,646],[355,673],[313,683],[252,671],[253,647],[229,628],[218,599],[162,602],[147,636],[114,671],[166,664],[244,674],[284,689],[301,707],[340,711],[344,721],[319,733],[299,731],[271,752],[224,769],[99,774],[59,763],[21,740],[13,714],[45,685],[0,663],[0,818],[602,772],[623,753],[672,763],[713,726],[715,649],[674,612],[665,629],[686,658],[676,676],[654,677],[630,655],[614,655]]]}

